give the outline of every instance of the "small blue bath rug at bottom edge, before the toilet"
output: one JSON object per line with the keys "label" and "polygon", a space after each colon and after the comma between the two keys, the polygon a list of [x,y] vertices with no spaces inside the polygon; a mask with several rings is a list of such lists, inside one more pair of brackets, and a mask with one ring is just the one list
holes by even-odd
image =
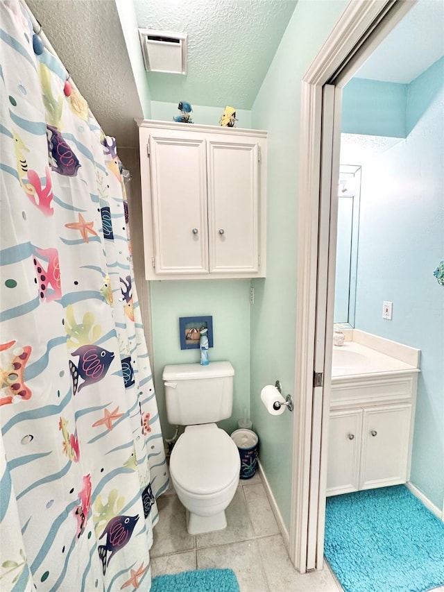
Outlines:
{"label": "small blue bath rug at bottom edge, before the toilet", "polygon": [[239,592],[239,584],[231,569],[198,569],[157,575],[151,592]]}

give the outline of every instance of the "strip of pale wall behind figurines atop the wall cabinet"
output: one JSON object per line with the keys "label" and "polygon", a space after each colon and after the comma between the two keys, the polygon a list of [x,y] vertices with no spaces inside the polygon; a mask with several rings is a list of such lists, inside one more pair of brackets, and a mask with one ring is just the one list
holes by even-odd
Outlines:
{"label": "strip of pale wall behind figurines atop the wall cabinet", "polygon": [[[158,119],[159,121],[173,121],[173,117],[180,114],[178,110],[178,104],[181,99],[179,98],[177,103],[164,103],[162,101],[151,101],[151,118]],[[185,100],[182,97],[182,100]],[[205,105],[191,105],[193,112],[191,117],[195,124],[203,126],[219,126],[219,119],[225,105],[221,107],[206,107]],[[251,128],[251,112],[239,109],[236,112],[236,127],[237,128]]]}

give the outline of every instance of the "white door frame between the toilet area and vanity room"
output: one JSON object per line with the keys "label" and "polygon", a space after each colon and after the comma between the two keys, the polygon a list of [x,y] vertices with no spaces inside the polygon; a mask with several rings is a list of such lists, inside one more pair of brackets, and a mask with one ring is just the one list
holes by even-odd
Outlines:
{"label": "white door frame between the toilet area and vanity room", "polygon": [[[321,185],[321,130],[325,108],[334,111],[330,183],[339,174],[341,89],[375,47],[412,8],[416,0],[351,0],[330,37],[302,78],[300,124],[300,182],[298,208],[298,292],[296,311],[295,398],[293,419],[293,476],[289,554],[300,573],[323,566],[327,430],[330,412],[330,380],[314,388],[314,373],[330,376],[334,279],[332,254],[336,251],[336,210],[333,223],[319,223]],[[335,90],[324,99],[327,83]],[[325,102],[327,101],[327,103]],[[336,103],[334,105],[328,101]],[[335,162],[335,160],[337,162]],[[325,178],[323,179],[325,183]],[[325,195],[325,186],[323,188]],[[332,187],[330,187],[330,196]],[[327,205],[330,208],[330,204]],[[328,269],[319,269],[319,247],[329,250]],[[330,246],[329,246],[330,245]],[[327,283],[328,293],[327,293]],[[321,293],[321,294],[320,294]],[[324,310],[316,310],[316,302]],[[318,314],[326,319],[325,341],[316,343]],[[315,362],[316,349],[316,362]],[[321,397],[321,403],[319,401]],[[314,436],[314,439],[312,439]]]}

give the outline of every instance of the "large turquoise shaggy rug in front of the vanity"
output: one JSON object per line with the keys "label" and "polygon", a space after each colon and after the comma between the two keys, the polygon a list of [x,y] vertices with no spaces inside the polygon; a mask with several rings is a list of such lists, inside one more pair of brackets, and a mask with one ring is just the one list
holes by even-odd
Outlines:
{"label": "large turquoise shaggy rug in front of the vanity", "polygon": [[345,592],[444,584],[444,523],[404,485],[327,498],[325,557]]}

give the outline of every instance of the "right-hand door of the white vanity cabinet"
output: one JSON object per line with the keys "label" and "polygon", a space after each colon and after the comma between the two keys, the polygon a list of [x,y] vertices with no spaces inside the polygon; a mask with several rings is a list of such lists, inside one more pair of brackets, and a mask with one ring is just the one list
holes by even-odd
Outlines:
{"label": "right-hand door of the white vanity cabinet", "polygon": [[359,489],[405,483],[411,405],[364,409]]}

